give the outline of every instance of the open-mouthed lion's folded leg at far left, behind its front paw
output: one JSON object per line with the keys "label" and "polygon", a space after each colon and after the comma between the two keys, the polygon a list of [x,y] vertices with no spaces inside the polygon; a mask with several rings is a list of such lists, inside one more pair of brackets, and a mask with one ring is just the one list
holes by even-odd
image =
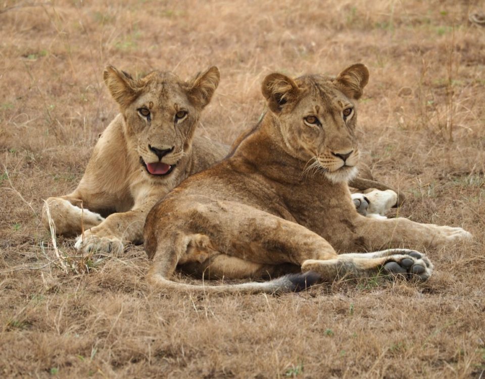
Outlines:
{"label": "open-mouthed lion's folded leg at far left, behind its front paw", "polygon": [[[56,234],[73,236],[79,234],[81,229],[87,230],[99,225],[104,218],[88,209],[74,205],[76,199],[68,197],[52,197],[44,202],[42,207],[42,224],[50,229],[51,221],[56,228]],[[80,204],[80,201],[77,201]]]}

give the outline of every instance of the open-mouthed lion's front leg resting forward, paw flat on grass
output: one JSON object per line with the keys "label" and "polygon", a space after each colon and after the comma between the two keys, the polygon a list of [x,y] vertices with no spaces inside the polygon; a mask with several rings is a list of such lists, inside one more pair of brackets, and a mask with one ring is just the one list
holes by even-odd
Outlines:
{"label": "open-mouthed lion's front leg resting forward, paw flat on grass", "polygon": [[81,234],[74,247],[85,252],[122,251],[128,244],[143,243],[143,225],[158,197],[144,201],[128,212],[113,213]]}

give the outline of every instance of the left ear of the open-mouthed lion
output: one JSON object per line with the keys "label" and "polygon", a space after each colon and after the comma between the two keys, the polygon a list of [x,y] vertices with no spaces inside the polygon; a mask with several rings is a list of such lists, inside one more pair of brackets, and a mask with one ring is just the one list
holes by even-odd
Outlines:
{"label": "left ear of the open-mouthed lion", "polygon": [[121,107],[128,106],[136,99],[138,88],[130,74],[113,66],[107,66],[103,72],[103,79],[111,96]]}

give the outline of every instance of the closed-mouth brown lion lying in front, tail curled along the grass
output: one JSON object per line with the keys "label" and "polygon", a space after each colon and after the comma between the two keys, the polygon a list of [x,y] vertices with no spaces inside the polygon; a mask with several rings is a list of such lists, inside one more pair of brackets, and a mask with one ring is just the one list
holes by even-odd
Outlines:
{"label": "closed-mouth brown lion lying in front, tail curled along the grass", "polygon": [[[429,259],[400,247],[438,247],[471,234],[356,211],[347,184],[359,161],[354,101],[368,77],[362,64],[336,78],[268,75],[262,91],[269,111],[259,124],[225,160],[185,180],[148,214],[149,279],[170,289],[269,293],[380,270],[426,280],[433,269]],[[302,175],[307,162],[316,162],[320,174]],[[192,286],[170,280],[177,267],[206,278],[303,273]]]}

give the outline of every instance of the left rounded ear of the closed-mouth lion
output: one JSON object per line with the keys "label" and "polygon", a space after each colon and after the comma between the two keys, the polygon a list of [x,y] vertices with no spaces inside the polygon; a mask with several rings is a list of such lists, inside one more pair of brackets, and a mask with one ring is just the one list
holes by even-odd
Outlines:
{"label": "left rounded ear of the closed-mouth lion", "polygon": [[296,100],[299,93],[297,83],[292,78],[279,73],[266,76],[261,90],[268,102],[269,109],[274,113],[279,113],[287,102]]}

